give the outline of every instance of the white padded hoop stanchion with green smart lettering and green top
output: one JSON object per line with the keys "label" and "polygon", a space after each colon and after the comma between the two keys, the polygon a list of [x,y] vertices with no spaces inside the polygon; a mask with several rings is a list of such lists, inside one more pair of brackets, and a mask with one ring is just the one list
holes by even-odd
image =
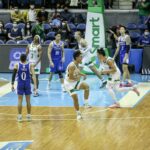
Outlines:
{"label": "white padded hoop stanchion with green smart lettering and green top", "polygon": [[98,4],[97,7],[89,7],[87,14],[85,38],[92,47],[92,54],[96,54],[98,48],[105,47],[104,6],[101,0],[98,1]]}

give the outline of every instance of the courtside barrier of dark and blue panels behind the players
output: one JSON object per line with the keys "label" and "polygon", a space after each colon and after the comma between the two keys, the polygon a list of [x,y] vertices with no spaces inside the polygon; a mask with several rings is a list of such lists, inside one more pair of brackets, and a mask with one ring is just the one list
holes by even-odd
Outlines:
{"label": "courtside barrier of dark and blue panels behind the players", "polygon": [[[42,56],[42,68],[41,73],[48,73],[49,61],[47,56],[47,45],[42,45],[43,56]],[[24,53],[26,45],[1,45],[0,51],[0,72],[11,72],[14,64],[19,61],[21,53]],[[72,61],[73,49],[65,49],[65,63],[64,71],[67,65]],[[107,50],[106,50],[107,51]],[[130,51],[130,64],[135,65],[135,72],[139,73],[142,67],[142,49],[131,49]],[[149,59],[150,60],[150,59]],[[96,61],[98,63],[98,61]],[[148,61],[146,61],[148,62]],[[96,64],[97,64],[96,63]],[[150,63],[149,63],[150,64]],[[149,65],[148,64],[148,65]]]}

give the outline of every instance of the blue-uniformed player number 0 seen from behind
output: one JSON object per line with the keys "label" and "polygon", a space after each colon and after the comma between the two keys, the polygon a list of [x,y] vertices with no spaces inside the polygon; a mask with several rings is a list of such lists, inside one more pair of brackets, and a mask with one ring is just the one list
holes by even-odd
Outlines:
{"label": "blue-uniformed player number 0 seen from behind", "polygon": [[14,91],[14,81],[17,74],[17,94],[18,94],[18,117],[19,122],[22,121],[22,101],[23,95],[26,96],[27,103],[27,120],[31,120],[31,104],[30,104],[30,95],[31,95],[31,76],[34,82],[34,92],[36,93],[36,77],[34,72],[34,66],[27,63],[27,56],[22,54],[20,56],[20,62],[15,65],[13,75],[12,75],[12,91]]}

